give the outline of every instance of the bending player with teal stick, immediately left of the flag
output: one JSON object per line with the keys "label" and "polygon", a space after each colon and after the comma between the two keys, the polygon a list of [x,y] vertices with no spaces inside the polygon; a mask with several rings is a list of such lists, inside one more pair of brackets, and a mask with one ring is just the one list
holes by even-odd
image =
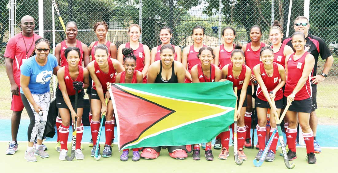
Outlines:
{"label": "bending player with teal stick, immediately left of the flag", "polygon": [[[102,153],[102,157],[112,156],[112,139],[114,138],[114,110],[113,104],[109,92],[107,91],[107,82],[115,82],[115,73],[120,73],[124,70],[122,64],[116,59],[108,58],[108,48],[106,45],[97,45],[95,47],[95,61],[88,64],[88,70],[91,78],[93,79],[92,91],[91,91],[91,106],[93,112],[93,119],[90,122],[90,128],[93,139],[93,149],[91,156],[94,157],[96,146],[96,139],[100,127],[100,118],[104,112],[105,115],[105,145]],[[109,99],[106,104],[105,99]]]}

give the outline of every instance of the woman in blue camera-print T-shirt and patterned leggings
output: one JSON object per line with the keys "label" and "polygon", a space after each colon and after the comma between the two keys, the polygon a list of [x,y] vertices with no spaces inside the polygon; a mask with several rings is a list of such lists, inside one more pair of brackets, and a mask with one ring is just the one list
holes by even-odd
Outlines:
{"label": "woman in blue camera-print T-shirt and patterned leggings", "polygon": [[[38,39],[35,41],[36,55],[28,58],[20,67],[21,99],[30,119],[27,133],[28,146],[25,152],[25,159],[28,162],[37,162],[35,155],[42,158],[49,157],[43,150],[42,137],[50,104],[50,78],[53,74],[56,75],[59,69],[56,57],[49,54],[49,48],[50,43],[47,39]],[[35,137],[38,138],[38,142],[33,149]]]}

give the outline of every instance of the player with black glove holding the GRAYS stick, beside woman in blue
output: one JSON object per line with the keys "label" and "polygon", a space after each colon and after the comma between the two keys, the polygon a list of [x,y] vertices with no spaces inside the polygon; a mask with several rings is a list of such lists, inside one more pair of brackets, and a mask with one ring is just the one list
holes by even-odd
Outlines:
{"label": "player with black glove holding the GRAYS stick, beside woman in blue", "polygon": [[[69,134],[69,125],[70,125],[70,116],[71,113],[73,122],[75,117],[77,118],[77,124],[80,124],[76,127],[76,151],[75,158],[77,160],[82,160],[84,155],[81,151],[81,140],[83,135],[83,124],[81,123],[82,113],[83,113],[83,96],[84,88],[88,88],[89,85],[89,72],[86,68],[78,65],[80,60],[80,49],[77,47],[68,47],[65,50],[65,57],[68,62],[68,65],[61,67],[57,71],[57,80],[59,83],[58,88],[56,89],[56,106],[59,110],[59,113],[62,118],[62,124],[59,127],[60,143],[61,150],[59,160],[66,160],[66,155],[68,152],[67,141]],[[77,113],[75,113],[75,92],[78,91],[78,100],[77,100]]]}

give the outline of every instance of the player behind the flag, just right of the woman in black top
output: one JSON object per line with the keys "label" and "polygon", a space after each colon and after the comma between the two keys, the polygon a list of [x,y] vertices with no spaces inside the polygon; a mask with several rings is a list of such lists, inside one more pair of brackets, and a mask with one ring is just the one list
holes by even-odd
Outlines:
{"label": "player behind the flag, just right of the woman in black top", "polygon": [[[210,47],[202,47],[199,49],[197,57],[200,59],[201,63],[196,64],[191,68],[190,73],[192,82],[218,82],[221,79],[221,70],[211,63],[214,59],[214,51]],[[214,160],[211,151],[211,142],[206,143],[205,157],[207,161]],[[192,158],[193,160],[200,160],[199,144],[194,145]]]}

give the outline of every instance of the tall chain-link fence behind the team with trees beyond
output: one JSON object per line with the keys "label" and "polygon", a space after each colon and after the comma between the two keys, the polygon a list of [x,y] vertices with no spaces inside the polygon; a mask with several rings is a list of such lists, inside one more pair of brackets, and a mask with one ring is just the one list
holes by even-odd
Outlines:
{"label": "tall chain-link fence behind the team with trees beyond", "polygon": [[[1,1],[0,20],[0,69],[1,100],[10,99],[9,82],[4,67],[4,50],[9,38],[9,11],[11,1],[15,1],[15,22],[20,23],[24,15],[35,19],[35,30],[38,30],[38,0]],[[107,39],[119,45],[129,41],[126,29],[132,23],[142,27],[140,41],[152,47],[161,44],[159,29],[169,26],[173,29],[171,43],[182,49],[192,44],[191,30],[196,25],[206,29],[203,43],[216,47],[221,44],[221,29],[232,26],[236,29],[236,44],[245,44],[249,39],[249,29],[253,25],[262,27],[262,41],[269,44],[268,32],[273,20],[278,20],[287,32],[290,0],[58,0],[58,6],[65,23],[75,21],[78,25],[77,39],[88,46],[97,40],[93,25],[98,21],[106,21],[110,31]],[[338,82],[338,1],[311,0],[310,33],[321,37],[335,57],[335,63],[325,83],[318,89],[318,106],[338,108],[337,92],[334,92]],[[55,14],[55,39],[53,39],[53,16],[50,0],[44,1],[44,37],[54,40],[54,44],[64,40],[62,26]],[[289,33],[294,32],[293,21],[304,14],[304,0],[293,0]],[[20,28],[16,27],[16,33]],[[289,35],[290,35],[289,34]],[[286,34],[284,34],[285,36]],[[318,71],[323,68],[324,61],[319,60]],[[7,87],[8,86],[8,87]],[[327,100],[330,99],[330,104]]]}

